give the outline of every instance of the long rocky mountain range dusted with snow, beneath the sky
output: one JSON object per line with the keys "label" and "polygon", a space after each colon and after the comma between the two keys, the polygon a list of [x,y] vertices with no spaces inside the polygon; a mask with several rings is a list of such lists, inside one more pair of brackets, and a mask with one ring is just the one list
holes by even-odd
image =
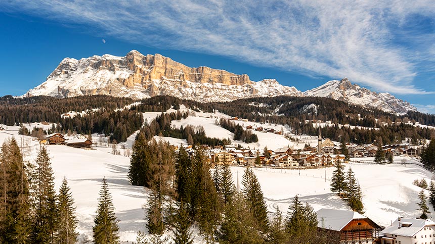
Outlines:
{"label": "long rocky mountain range dusted with snow, beneath the sky", "polygon": [[234,74],[209,67],[191,68],[160,54],[143,55],[136,50],[125,57],[92,56],[65,58],[47,80],[24,96],[71,97],[106,94],[144,99],[171,95],[199,102],[228,102],[263,96],[324,96],[385,112],[416,111],[408,102],[389,93],[377,93],[347,78],[331,80],[305,92],[284,86],[275,79],[251,81],[247,74]]}

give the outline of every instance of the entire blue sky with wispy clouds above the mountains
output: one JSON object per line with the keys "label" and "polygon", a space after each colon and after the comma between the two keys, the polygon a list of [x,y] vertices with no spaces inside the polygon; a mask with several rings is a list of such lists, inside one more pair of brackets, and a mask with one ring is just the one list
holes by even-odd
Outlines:
{"label": "entire blue sky with wispy clouds above the mountains", "polygon": [[135,49],[302,91],[348,77],[435,113],[431,1],[6,0],[0,23],[0,95],[25,93],[65,57]]}

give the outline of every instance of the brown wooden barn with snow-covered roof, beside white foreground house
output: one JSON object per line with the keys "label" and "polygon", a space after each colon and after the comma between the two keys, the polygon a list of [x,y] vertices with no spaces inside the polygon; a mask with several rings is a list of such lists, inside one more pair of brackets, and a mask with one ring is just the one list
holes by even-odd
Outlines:
{"label": "brown wooden barn with snow-covered roof, beside white foreground house", "polygon": [[353,211],[321,209],[317,211],[317,227],[337,233],[340,243],[375,243],[382,229],[366,216]]}

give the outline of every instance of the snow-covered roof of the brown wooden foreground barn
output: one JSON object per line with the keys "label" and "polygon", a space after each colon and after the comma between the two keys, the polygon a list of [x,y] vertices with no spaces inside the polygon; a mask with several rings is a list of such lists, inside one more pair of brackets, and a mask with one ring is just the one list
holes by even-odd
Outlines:
{"label": "snow-covered roof of the brown wooden foreground barn", "polygon": [[[367,219],[366,216],[354,211],[321,209],[316,212],[319,223],[317,227],[340,231],[354,219]],[[322,223],[323,222],[323,223]]]}

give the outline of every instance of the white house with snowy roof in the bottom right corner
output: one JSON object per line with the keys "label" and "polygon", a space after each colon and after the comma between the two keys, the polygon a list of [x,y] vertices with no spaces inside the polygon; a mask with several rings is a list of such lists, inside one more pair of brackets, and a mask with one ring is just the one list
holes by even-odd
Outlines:
{"label": "white house with snowy roof in the bottom right corner", "polygon": [[435,243],[435,222],[399,217],[382,230],[381,235],[381,244]]}

